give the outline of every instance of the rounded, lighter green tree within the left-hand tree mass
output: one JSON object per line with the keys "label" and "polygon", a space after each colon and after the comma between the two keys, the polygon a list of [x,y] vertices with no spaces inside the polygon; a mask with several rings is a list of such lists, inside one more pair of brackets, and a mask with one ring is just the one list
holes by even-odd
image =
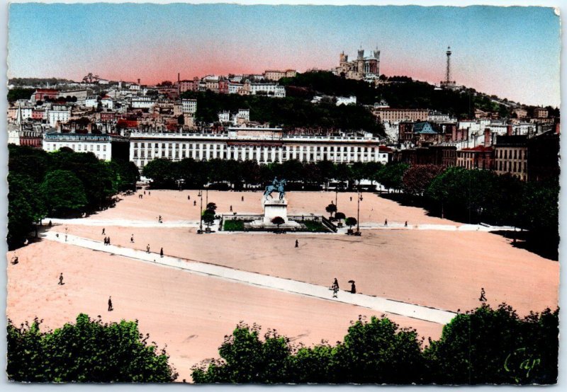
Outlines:
{"label": "rounded, lighter green tree within the left-hand tree mass", "polygon": [[53,217],[77,214],[86,205],[84,186],[71,171],[56,170],[47,173],[40,192],[47,212]]}

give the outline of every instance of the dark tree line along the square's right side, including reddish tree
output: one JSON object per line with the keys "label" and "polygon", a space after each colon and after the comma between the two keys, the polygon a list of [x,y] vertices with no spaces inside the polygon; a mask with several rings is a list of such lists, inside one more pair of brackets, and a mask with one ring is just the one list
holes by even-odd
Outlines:
{"label": "dark tree line along the square's right side, including reddish tree", "polygon": [[520,233],[508,234],[514,241],[525,240],[530,250],[558,259],[558,178],[525,182],[508,173],[403,163],[382,172],[383,185],[403,192],[397,200],[456,221],[515,226]]}

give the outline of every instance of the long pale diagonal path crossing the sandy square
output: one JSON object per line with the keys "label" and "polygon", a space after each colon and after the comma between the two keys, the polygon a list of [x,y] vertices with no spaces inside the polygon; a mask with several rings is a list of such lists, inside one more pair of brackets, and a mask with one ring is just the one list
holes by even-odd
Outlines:
{"label": "long pale diagonal path crossing the sandy square", "polygon": [[174,258],[167,255],[164,255],[163,258],[160,258],[159,254],[157,253],[146,253],[143,250],[124,248],[121,246],[105,246],[100,241],[94,241],[78,236],[68,235],[67,238],[65,237],[65,234],[55,233],[54,231],[47,231],[45,234],[43,234],[43,238],[50,241],[59,241],[62,243],[67,243],[67,245],[98,250],[101,252],[140,260],[146,263],[163,265],[165,267],[174,267],[193,274],[231,280],[233,282],[250,284],[257,287],[264,287],[266,289],[279,290],[281,292],[313,296],[319,299],[325,299],[327,301],[338,301],[344,304],[363,306],[375,311],[382,311],[385,313],[417,318],[433,323],[447,324],[456,315],[456,313],[450,311],[434,309],[427,306],[406,304],[400,301],[393,301],[391,299],[385,299],[378,296],[369,296],[365,294],[339,292],[338,298],[333,299],[332,292],[330,292],[330,289],[328,287],[322,287],[316,284],[299,282],[292,279],[283,279],[281,277],[271,277],[269,275],[262,275],[257,272],[235,270],[229,267],[221,267],[219,265],[202,263],[197,260]]}

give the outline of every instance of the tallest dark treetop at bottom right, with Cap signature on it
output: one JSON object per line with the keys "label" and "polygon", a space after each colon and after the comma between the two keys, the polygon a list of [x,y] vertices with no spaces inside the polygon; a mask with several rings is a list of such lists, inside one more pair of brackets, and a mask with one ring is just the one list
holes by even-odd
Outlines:
{"label": "tallest dark treetop at bottom right, with Cap signature on it", "polygon": [[430,342],[424,357],[437,384],[554,384],[558,310],[523,320],[506,305],[460,314]]}

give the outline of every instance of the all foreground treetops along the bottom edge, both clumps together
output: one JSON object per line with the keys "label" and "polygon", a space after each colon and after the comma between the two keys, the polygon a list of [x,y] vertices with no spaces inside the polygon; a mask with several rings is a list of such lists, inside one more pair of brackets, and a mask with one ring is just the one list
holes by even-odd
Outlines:
{"label": "all foreground treetops along the bottom edge, both clumps together", "polygon": [[[178,376],[165,347],[148,343],[137,321],[102,323],[85,314],[62,328],[8,323],[12,381],[171,382]],[[196,384],[555,384],[558,310],[520,318],[510,306],[459,313],[439,340],[418,338],[388,318],[352,321],[342,341],[292,344],[276,330],[240,322],[220,358],[194,366]],[[185,380],[184,380],[185,381]]]}

